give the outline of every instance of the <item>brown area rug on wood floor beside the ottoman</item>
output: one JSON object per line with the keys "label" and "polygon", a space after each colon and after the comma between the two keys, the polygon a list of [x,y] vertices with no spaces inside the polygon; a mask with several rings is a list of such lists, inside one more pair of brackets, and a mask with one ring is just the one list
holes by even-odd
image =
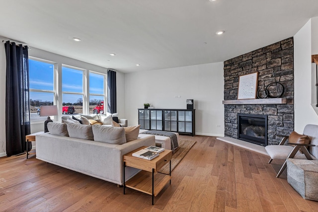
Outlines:
{"label": "brown area rug on wood floor beside the ottoman", "polygon": [[[196,141],[179,140],[179,147],[174,151],[171,158],[171,171],[178,165],[182,158],[188,153]],[[166,163],[158,172],[169,174],[169,163]]]}

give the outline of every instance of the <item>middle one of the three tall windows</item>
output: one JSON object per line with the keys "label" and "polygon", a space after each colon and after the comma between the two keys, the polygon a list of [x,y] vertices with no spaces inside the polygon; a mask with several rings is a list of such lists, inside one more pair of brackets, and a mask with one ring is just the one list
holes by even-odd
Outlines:
{"label": "middle one of the three tall windows", "polygon": [[[73,114],[68,106],[74,106],[75,113],[83,113],[83,70],[62,66],[63,114]],[[72,108],[73,109],[73,108]]]}

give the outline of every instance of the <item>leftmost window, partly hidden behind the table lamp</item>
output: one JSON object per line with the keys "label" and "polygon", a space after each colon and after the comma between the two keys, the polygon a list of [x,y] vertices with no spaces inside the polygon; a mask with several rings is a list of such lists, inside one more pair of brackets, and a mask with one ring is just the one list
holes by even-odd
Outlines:
{"label": "leftmost window, partly hidden behind the table lamp", "polygon": [[56,93],[54,70],[54,62],[29,58],[30,120],[32,122],[45,121],[47,117],[39,116],[40,107],[54,104]]}

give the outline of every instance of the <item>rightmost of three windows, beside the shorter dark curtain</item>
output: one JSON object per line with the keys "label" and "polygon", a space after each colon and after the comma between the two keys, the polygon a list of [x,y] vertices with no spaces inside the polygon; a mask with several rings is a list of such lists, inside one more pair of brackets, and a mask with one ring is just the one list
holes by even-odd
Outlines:
{"label": "rightmost of three windows, beside the shorter dark curtain", "polygon": [[[106,74],[89,71],[89,113],[103,113]],[[97,107],[96,107],[97,106]]]}

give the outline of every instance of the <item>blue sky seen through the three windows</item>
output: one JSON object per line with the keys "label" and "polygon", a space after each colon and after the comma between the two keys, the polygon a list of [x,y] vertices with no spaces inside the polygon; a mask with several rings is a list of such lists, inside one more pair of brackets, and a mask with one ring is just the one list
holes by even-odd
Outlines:
{"label": "blue sky seen through the three windows", "polygon": [[[54,65],[29,59],[29,81],[30,89],[54,90]],[[96,73],[89,73],[89,93],[103,94],[104,76]],[[62,91],[83,92],[83,71],[62,67]],[[53,101],[52,93],[31,92],[30,99],[42,101]],[[63,102],[76,103],[82,95],[63,94]],[[100,96],[90,96],[90,99],[100,99]]]}

